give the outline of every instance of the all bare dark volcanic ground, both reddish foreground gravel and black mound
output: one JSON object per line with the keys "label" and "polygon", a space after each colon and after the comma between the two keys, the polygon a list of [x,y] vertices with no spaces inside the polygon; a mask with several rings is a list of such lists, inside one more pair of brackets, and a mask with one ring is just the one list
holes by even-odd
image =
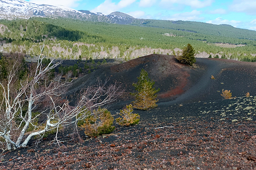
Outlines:
{"label": "all bare dark volcanic ground, both reddish foreground gravel and black mound", "polygon": [[[172,56],[152,54],[77,79],[69,95],[96,77],[118,80],[128,93],[145,68],[161,88],[160,102],[149,111],[134,110],[141,116],[138,125],[115,124],[108,135],[89,138],[81,132],[83,141],[74,142],[70,127],[59,133],[61,146],[48,136],[27,148],[5,151],[0,169],[255,170],[256,63],[197,59],[195,64],[190,68]],[[236,98],[222,99],[222,89]],[[109,110],[116,118],[130,101],[124,97]]]}

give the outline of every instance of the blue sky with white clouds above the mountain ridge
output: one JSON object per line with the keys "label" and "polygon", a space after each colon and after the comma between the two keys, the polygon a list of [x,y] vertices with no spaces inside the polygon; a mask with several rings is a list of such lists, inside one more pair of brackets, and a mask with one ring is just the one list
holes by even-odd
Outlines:
{"label": "blue sky with white clouds above the mountain ridge", "polygon": [[229,24],[256,31],[256,0],[26,0],[136,18]]}

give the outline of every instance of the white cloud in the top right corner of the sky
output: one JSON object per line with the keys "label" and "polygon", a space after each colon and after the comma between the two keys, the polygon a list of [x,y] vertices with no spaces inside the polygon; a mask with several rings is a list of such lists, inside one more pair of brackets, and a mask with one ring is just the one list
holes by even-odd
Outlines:
{"label": "white cloud in the top right corner of the sky", "polygon": [[256,14],[256,1],[255,0],[234,0],[230,5],[230,9],[236,12],[244,12],[246,14]]}

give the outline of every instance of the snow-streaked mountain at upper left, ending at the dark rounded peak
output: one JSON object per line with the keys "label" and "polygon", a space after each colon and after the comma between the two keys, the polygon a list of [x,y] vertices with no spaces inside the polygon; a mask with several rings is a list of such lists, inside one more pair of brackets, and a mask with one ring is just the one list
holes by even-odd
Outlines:
{"label": "snow-streaked mountain at upper left, ending at the dark rounded peak", "polygon": [[28,19],[30,17],[68,17],[117,24],[131,24],[135,19],[122,12],[113,12],[105,15],[87,10],[77,11],[65,6],[38,5],[25,0],[0,0],[0,19]]}

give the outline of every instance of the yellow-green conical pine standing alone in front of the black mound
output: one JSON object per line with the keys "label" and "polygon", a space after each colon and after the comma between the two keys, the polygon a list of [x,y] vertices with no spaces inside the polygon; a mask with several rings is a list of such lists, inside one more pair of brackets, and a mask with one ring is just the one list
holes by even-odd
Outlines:
{"label": "yellow-green conical pine standing alone in front of the black mound", "polygon": [[134,108],[148,110],[149,108],[157,107],[156,93],[160,91],[160,88],[157,90],[153,88],[155,82],[148,78],[148,73],[143,69],[140,71],[140,77],[137,77],[137,79],[138,82],[132,85],[138,92],[131,93],[132,96],[135,96],[135,101],[132,102]]}

